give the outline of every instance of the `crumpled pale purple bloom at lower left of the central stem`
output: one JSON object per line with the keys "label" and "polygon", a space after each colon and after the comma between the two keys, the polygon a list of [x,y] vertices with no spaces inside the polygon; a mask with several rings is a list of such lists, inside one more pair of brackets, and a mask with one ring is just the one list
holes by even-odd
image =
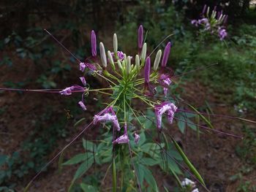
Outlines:
{"label": "crumpled pale purple bloom at lower left of the central stem", "polygon": [[100,112],[103,115],[94,115],[94,125],[98,122],[111,121],[113,123],[113,127],[120,131],[120,126],[118,123],[118,119],[112,107],[108,107],[107,109]]}

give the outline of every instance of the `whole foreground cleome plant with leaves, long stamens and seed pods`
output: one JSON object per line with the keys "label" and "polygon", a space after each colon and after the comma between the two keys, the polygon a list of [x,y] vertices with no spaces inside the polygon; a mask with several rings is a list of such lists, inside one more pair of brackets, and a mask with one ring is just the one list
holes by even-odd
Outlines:
{"label": "whole foreground cleome plant with leaves, long stamens and seed pods", "polygon": [[[69,191],[75,188],[75,184],[81,181],[85,174],[91,174],[90,168],[93,165],[102,166],[106,171],[103,175],[97,176],[100,181],[94,185],[89,183],[89,180],[82,180],[80,188],[83,191],[160,191],[160,189],[168,191],[161,180],[156,181],[159,175],[153,174],[153,172],[158,173],[159,169],[162,170],[160,172],[162,174],[172,175],[181,191],[198,191],[195,183],[204,191],[208,191],[203,177],[170,134],[170,126],[175,127],[173,123],[177,123],[181,132],[184,132],[184,127],[187,125],[199,134],[207,130],[240,139],[241,137],[215,129],[203,112],[199,112],[180,96],[172,93],[178,85],[176,77],[179,76],[167,66],[172,44],[167,42],[163,52],[160,49],[157,50],[171,35],[163,39],[159,46],[148,54],[143,34],[143,26],[140,26],[137,55],[127,55],[118,50],[116,34],[113,34],[113,50],[106,52],[105,46],[100,42],[98,55],[97,37],[94,31],[91,31],[91,56],[83,62],[50,34],[78,61],[79,69],[83,72],[83,76],[80,77],[81,84],[70,85],[61,91],[1,88],[9,91],[60,93],[63,96],[80,93],[81,100],[78,101],[78,105],[81,110],[87,110],[86,97],[90,93],[96,92],[107,96],[105,106],[102,104],[102,110],[94,115],[91,123],[85,126],[83,131],[80,131],[32,178],[24,191],[29,190],[31,183],[56,158],[59,156],[61,156],[60,160],[63,158],[63,152],[69,145],[87,130],[96,127],[101,134],[95,140],[83,139],[83,153],[75,155],[64,163],[61,161],[64,166],[79,164]],[[157,53],[153,59],[152,55],[155,51]],[[87,74],[105,80],[107,82],[105,87],[91,88],[86,82]],[[244,120],[225,115],[219,116]],[[207,126],[193,123],[194,118],[197,122],[203,120]],[[81,121],[79,120],[78,123]],[[181,176],[183,172],[186,172],[191,180],[186,178],[181,181],[180,178],[184,177],[184,175]],[[112,184],[105,183],[107,178],[108,180],[112,178]]]}

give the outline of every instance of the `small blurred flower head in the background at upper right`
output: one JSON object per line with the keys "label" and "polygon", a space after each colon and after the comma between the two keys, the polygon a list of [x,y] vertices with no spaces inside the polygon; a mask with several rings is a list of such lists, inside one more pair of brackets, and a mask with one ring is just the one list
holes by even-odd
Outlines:
{"label": "small blurred flower head in the background at upper right", "polygon": [[195,26],[203,26],[203,31],[209,31],[211,34],[217,34],[220,40],[227,37],[226,25],[227,15],[224,15],[222,11],[217,12],[216,7],[211,12],[210,7],[206,5],[203,7],[203,12],[199,20],[192,20],[191,23]]}

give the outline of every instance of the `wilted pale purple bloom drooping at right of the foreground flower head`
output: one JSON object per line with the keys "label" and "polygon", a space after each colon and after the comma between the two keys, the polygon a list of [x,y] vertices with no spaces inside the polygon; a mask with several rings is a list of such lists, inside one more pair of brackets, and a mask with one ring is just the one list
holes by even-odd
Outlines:
{"label": "wilted pale purple bloom drooping at right of the foreground flower head", "polygon": [[167,120],[169,123],[173,123],[173,116],[176,112],[177,107],[175,104],[165,101],[162,104],[156,105],[154,107],[155,114],[157,116],[157,128],[160,129],[162,125],[162,115],[167,112]]}

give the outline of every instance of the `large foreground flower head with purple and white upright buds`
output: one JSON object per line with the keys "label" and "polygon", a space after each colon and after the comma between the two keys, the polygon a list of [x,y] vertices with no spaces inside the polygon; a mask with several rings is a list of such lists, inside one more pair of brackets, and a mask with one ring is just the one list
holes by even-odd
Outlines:
{"label": "large foreground flower head with purple and white upright buds", "polygon": [[[83,86],[72,85],[60,91],[61,95],[71,95],[72,92],[81,92],[82,100],[78,102],[83,110],[86,110],[84,97],[90,91],[98,91],[111,95],[113,101],[105,107],[104,110],[94,115],[94,125],[97,123],[110,122],[115,131],[120,131],[124,127],[124,134],[114,139],[113,144],[128,143],[129,137],[127,126],[129,126],[129,117],[126,112],[132,110],[132,99],[141,99],[155,111],[157,119],[157,128],[161,130],[162,115],[167,115],[169,123],[173,123],[173,116],[177,110],[175,104],[170,101],[158,101],[154,98],[157,93],[157,85],[162,87],[163,98],[167,96],[167,91],[172,83],[172,70],[167,67],[168,57],[170,55],[171,43],[168,42],[162,54],[162,50],[158,50],[154,58],[154,65],[151,66],[151,54],[147,53],[147,44],[143,39],[143,26],[138,28],[138,54],[135,56],[127,55],[118,50],[117,35],[113,34],[113,51],[105,51],[102,42],[99,43],[99,58],[97,56],[97,37],[94,31],[91,31],[91,57],[86,58],[84,62],[80,62],[80,71],[86,74],[86,71],[98,75],[109,83],[108,88],[91,89],[86,85],[85,77],[80,77]],[[161,62],[161,64],[160,64]],[[143,78],[140,76],[143,75]],[[140,78],[139,78],[140,77]],[[160,93],[160,94],[161,94]],[[167,99],[164,99],[167,100]],[[123,108],[122,110],[120,110]],[[120,110],[120,112],[118,111]],[[116,114],[122,114],[119,117]],[[119,119],[119,120],[118,120]],[[119,122],[124,122],[119,124]],[[135,143],[139,142],[140,136],[134,133]]]}

